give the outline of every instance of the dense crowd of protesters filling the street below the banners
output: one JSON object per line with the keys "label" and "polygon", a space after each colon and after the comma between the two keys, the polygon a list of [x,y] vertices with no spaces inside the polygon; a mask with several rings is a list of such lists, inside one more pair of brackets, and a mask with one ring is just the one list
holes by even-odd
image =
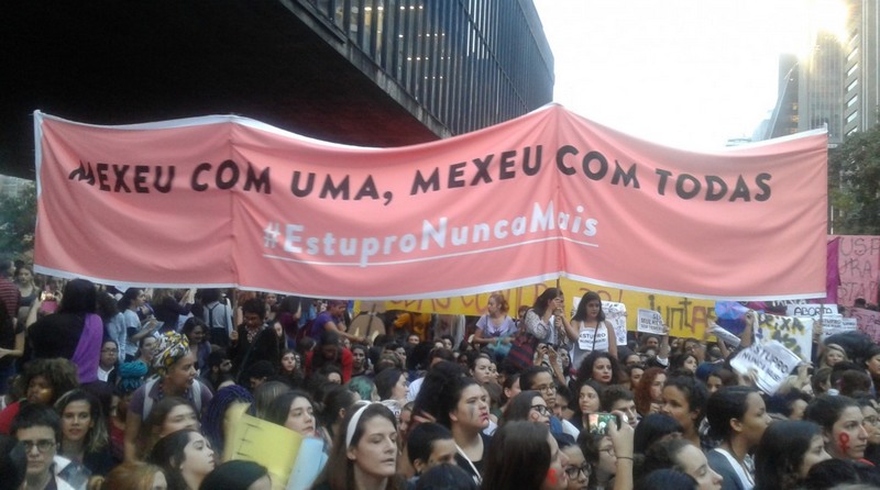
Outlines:
{"label": "dense crowd of protesters filling the street below the banners", "polygon": [[[493,293],[482,316],[381,311],[373,330],[350,301],[3,258],[0,489],[880,488],[865,334],[817,322],[789,365],[756,350],[769,304],[741,304],[727,337],[620,338],[597,293],[571,300]],[[784,371],[770,388],[762,361]],[[245,425],[296,441],[293,469],[270,463],[284,444],[248,457]]]}

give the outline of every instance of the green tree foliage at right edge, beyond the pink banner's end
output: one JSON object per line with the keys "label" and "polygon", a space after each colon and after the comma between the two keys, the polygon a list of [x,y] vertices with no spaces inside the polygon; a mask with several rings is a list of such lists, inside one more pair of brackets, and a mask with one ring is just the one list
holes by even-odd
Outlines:
{"label": "green tree foliage at right edge, beyond the pink banner's end", "polygon": [[837,235],[880,235],[880,125],[828,155],[828,200]]}

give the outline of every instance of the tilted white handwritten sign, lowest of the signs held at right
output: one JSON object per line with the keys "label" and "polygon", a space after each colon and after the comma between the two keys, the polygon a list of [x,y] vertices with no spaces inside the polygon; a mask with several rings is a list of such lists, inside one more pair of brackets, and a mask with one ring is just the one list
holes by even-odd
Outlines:
{"label": "tilted white handwritten sign, lowest of the signs held at right", "polygon": [[777,341],[758,343],[740,350],[730,359],[730,367],[741,375],[751,375],[758,388],[773,394],[801,364],[801,358]]}

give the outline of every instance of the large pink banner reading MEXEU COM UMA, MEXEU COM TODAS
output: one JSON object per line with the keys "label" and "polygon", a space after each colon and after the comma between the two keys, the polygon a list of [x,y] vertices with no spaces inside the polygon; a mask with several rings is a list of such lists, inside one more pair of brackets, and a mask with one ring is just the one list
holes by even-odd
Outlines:
{"label": "large pink banner reading MEXEU COM UMA, MEXEU COM TODAS", "polygon": [[548,105],[341,146],[237,116],[35,114],[44,272],[418,299],[560,276],[694,298],[825,296],[824,133],[695,153]]}

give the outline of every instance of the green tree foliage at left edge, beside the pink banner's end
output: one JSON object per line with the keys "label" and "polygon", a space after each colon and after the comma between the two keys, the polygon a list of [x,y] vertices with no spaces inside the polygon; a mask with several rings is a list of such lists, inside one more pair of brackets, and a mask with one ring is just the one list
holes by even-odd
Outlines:
{"label": "green tree foliage at left edge, beside the pink banner's end", "polygon": [[29,182],[16,196],[0,196],[0,250],[15,256],[34,247],[36,186]]}

